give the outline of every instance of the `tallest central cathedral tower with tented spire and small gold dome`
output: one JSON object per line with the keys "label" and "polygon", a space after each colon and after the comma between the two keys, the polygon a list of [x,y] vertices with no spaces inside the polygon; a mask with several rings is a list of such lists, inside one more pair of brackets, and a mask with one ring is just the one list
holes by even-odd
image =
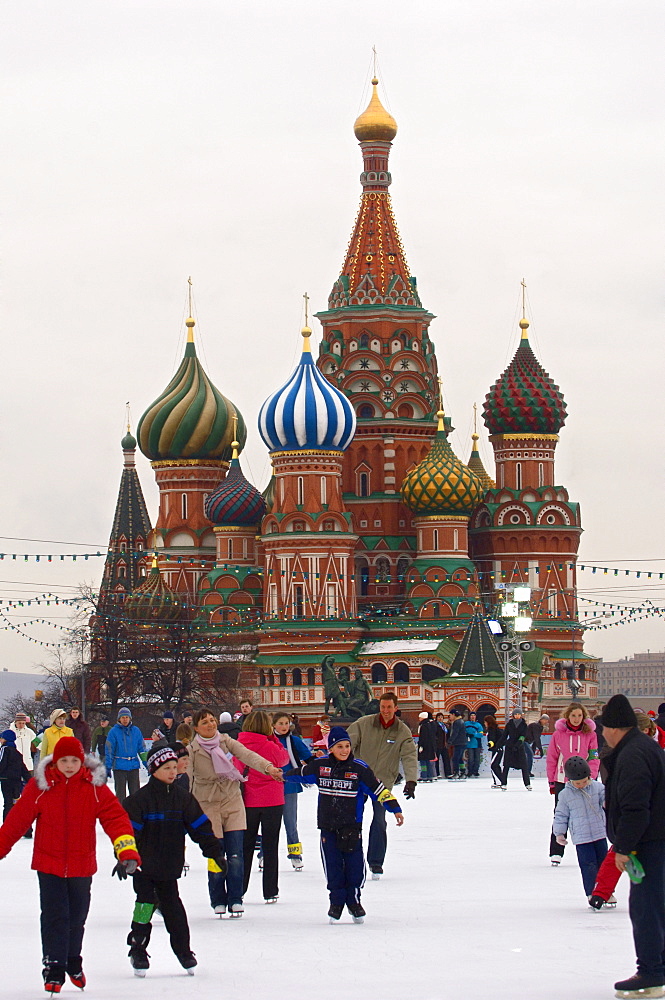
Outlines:
{"label": "tallest central cathedral tower with tented spire and small gold dome", "polygon": [[323,326],[318,366],[351,401],[358,426],[344,455],[344,502],[360,537],[358,594],[390,603],[404,593],[414,547],[400,484],[425,457],[434,434],[437,366],[423,308],[390,201],[388,169],[395,119],[378,80],[354,131],[363,156],[362,194],[342,271]]}

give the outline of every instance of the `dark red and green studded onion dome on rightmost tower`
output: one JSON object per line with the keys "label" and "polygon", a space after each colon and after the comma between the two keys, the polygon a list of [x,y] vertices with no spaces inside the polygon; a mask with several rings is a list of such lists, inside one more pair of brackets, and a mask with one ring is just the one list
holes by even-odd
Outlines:
{"label": "dark red and green studded onion dome on rightmost tower", "polygon": [[566,419],[563,395],[531,350],[527,320],[520,326],[515,357],[485,397],[485,425],[490,434],[558,434]]}

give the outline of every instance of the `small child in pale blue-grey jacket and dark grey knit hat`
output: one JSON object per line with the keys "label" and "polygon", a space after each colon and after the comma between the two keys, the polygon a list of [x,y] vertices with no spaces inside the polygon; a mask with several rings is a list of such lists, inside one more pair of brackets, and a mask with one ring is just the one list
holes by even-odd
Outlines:
{"label": "small child in pale blue-grey jacket and dark grey knit hat", "polygon": [[593,894],[598,869],[607,854],[605,837],[605,786],[591,780],[584,757],[569,757],[564,771],[568,779],[554,811],[554,836],[567,843],[566,833],[577,850],[577,861],[587,899]]}

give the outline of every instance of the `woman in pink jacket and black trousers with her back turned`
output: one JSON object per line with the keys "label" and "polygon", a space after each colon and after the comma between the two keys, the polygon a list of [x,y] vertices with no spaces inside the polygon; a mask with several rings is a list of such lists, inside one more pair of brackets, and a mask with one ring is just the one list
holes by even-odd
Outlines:
{"label": "woman in pink jacket and black trousers with her back turned", "polygon": [[[276,767],[289,763],[289,755],[273,733],[272,720],[265,712],[251,712],[245,719],[238,742],[248,750],[265,757]],[[236,761],[243,771],[243,765]],[[252,872],[252,859],[256,836],[261,828],[263,845],[263,898],[266,903],[276,903],[279,895],[278,862],[279,831],[284,812],[284,785],[266,778],[258,771],[249,771],[243,786],[247,828],[244,839],[245,893]]]}

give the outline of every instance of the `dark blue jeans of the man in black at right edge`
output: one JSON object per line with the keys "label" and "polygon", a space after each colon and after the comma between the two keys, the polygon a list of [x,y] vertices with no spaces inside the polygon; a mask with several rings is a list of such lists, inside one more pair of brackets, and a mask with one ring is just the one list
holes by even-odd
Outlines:
{"label": "dark blue jeans of the man in black at right edge", "polygon": [[633,925],[637,971],[665,982],[665,841],[647,840],[637,848],[644,879],[630,884],[628,913]]}

